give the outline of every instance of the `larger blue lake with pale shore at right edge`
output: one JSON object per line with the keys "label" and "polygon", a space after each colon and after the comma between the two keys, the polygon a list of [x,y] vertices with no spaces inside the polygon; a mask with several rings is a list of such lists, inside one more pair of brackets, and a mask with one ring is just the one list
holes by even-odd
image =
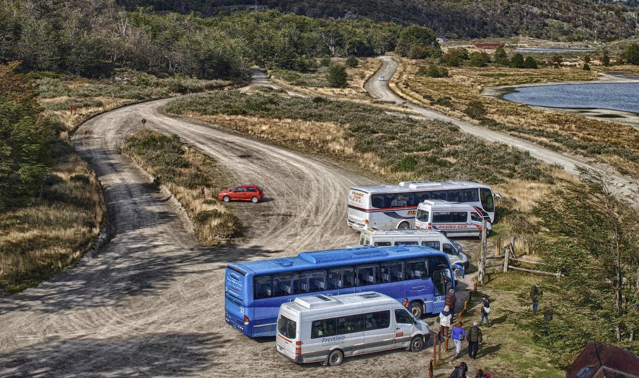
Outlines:
{"label": "larger blue lake with pale shore at right edge", "polygon": [[504,98],[552,108],[599,108],[639,113],[639,82],[538,85],[519,87],[516,91]]}

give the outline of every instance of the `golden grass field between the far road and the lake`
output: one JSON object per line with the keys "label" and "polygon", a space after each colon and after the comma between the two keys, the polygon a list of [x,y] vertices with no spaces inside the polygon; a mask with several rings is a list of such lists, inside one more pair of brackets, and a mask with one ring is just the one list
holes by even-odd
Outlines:
{"label": "golden grass field between the far road and the lake", "polygon": [[[481,96],[484,86],[527,83],[594,80],[596,71],[579,67],[450,68],[448,78],[422,75],[422,62],[402,60],[401,72],[392,83],[394,91],[453,117],[504,131],[557,151],[594,157],[612,164],[622,172],[639,170],[639,133],[631,126],[609,120],[588,119],[582,115],[536,110],[527,105]],[[601,68],[596,68],[601,69]],[[615,67],[624,70],[626,67]],[[485,108],[475,117],[465,111],[472,101]]]}

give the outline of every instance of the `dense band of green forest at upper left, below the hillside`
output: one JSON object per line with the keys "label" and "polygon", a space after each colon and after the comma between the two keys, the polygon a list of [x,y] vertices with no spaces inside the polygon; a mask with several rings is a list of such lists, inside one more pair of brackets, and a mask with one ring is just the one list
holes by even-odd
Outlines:
{"label": "dense band of green forest at upper left, below the hillside", "polygon": [[402,29],[278,11],[201,18],[127,12],[114,0],[0,0],[0,62],[82,76],[108,76],[124,67],[155,75],[240,78],[254,62],[305,71],[324,55],[382,54],[394,50]]}

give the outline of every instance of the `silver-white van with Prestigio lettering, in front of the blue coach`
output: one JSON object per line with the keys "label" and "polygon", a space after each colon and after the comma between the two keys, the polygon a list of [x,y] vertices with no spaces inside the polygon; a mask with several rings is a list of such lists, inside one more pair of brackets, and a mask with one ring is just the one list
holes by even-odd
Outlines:
{"label": "silver-white van with Prestigio lettering, in front of the blue coach", "polygon": [[419,352],[428,324],[390,296],[364,293],[295,298],[277,316],[277,352],[296,363],[336,366],[344,357],[394,348]]}

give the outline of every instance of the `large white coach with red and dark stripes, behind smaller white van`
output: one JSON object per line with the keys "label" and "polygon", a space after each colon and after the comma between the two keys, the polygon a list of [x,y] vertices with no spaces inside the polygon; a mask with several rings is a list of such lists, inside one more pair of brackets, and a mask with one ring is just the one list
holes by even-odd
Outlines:
{"label": "large white coach with red and dark stripes, behind smaller white van", "polygon": [[348,191],[348,226],[361,231],[415,228],[417,205],[426,200],[468,203],[495,221],[495,198],[488,185],[470,181],[405,181],[398,185],[355,186]]}

